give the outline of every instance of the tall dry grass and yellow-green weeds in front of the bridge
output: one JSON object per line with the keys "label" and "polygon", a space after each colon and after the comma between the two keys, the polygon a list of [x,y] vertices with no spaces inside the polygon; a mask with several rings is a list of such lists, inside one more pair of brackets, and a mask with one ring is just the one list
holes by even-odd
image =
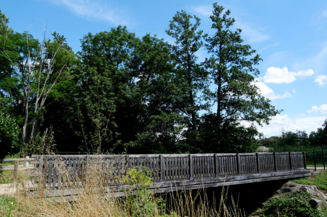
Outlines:
{"label": "tall dry grass and yellow-green weeds in front of the bridge", "polygon": [[[67,200],[62,195],[57,197],[44,197],[47,188],[40,184],[40,194],[38,197],[29,197],[29,192],[25,188],[18,188],[12,199],[0,197],[0,215],[6,216],[8,213],[12,216],[243,216],[237,203],[228,206],[226,203],[228,188],[222,188],[222,192],[216,199],[208,199],[205,189],[198,189],[196,194],[192,191],[181,191],[176,194],[170,194],[167,201],[154,195],[146,189],[149,183],[131,183],[133,178],[137,181],[146,177],[144,171],[135,171],[127,173],[123,179],[127,180],[132,190],[136,185],[141,186],[141,191],[125,192],[121,198],[111,197],[110,192],[103,191],[103,186],[113,182],[122,181],[121,179],[111,179],[108,181],[108,175],[103,173],[103,162],[92,162],[87,167],[92,168],[84,180],[79,180],[72,176],[72,173],[65,169],[63,163],[58,164],[62,177],[65,180],[67,188],[75,188],[77,195],[73,201]],[[140,178],[141,177],[141,178]],[[19,182],[23,184],[28,177],[20,178]],[[148,181],[148,179],[144,179]],[[126,182],[126,183],[127,183]],[[141,181],[142,182],[142,181]],[[141,184],[141,185],[140,185]],[[142,185],[144,184],[144,185]],[[21,186],[21,185],[20,185]],[[143,192],[143,190],[146,191]],[[10,201],[10,202],[6,202]],[[136,204],[138,203],[138,204]],[[169,203],[169,204],[167,204]],[[217,203],[217,204],[216,204]],[[166,206],[167,204],[167,206]],[[145,206],[151,206],[144,211]],[[133,209],[134,210],[131,210]],[[169,207],[169,208],[168,208]],[[9,212],[9,211],[10,212]],[[143,211],[142,211],[143,210]]]}

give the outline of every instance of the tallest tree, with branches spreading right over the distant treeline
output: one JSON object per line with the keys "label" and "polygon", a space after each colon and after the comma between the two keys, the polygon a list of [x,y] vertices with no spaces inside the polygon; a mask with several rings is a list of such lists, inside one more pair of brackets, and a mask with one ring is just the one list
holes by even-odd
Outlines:
{"label": "tallest tree, with branches spreading right over the distant treeline", "polygon": [[224,12],[217,3],[213,6],[210,18],[216,32],[212,36],[205,35],[205,46],[211,55],[205,66],[216,85],[212,92],[213,101],[217,103],[216,129],[219,130],[224,122],[268,123],[279,111],[254,84],[260,73],[255,65],[261,59],[250,45],[243,44],[241,30],[232,30],[235,19],[229,17],[230,11]]}

